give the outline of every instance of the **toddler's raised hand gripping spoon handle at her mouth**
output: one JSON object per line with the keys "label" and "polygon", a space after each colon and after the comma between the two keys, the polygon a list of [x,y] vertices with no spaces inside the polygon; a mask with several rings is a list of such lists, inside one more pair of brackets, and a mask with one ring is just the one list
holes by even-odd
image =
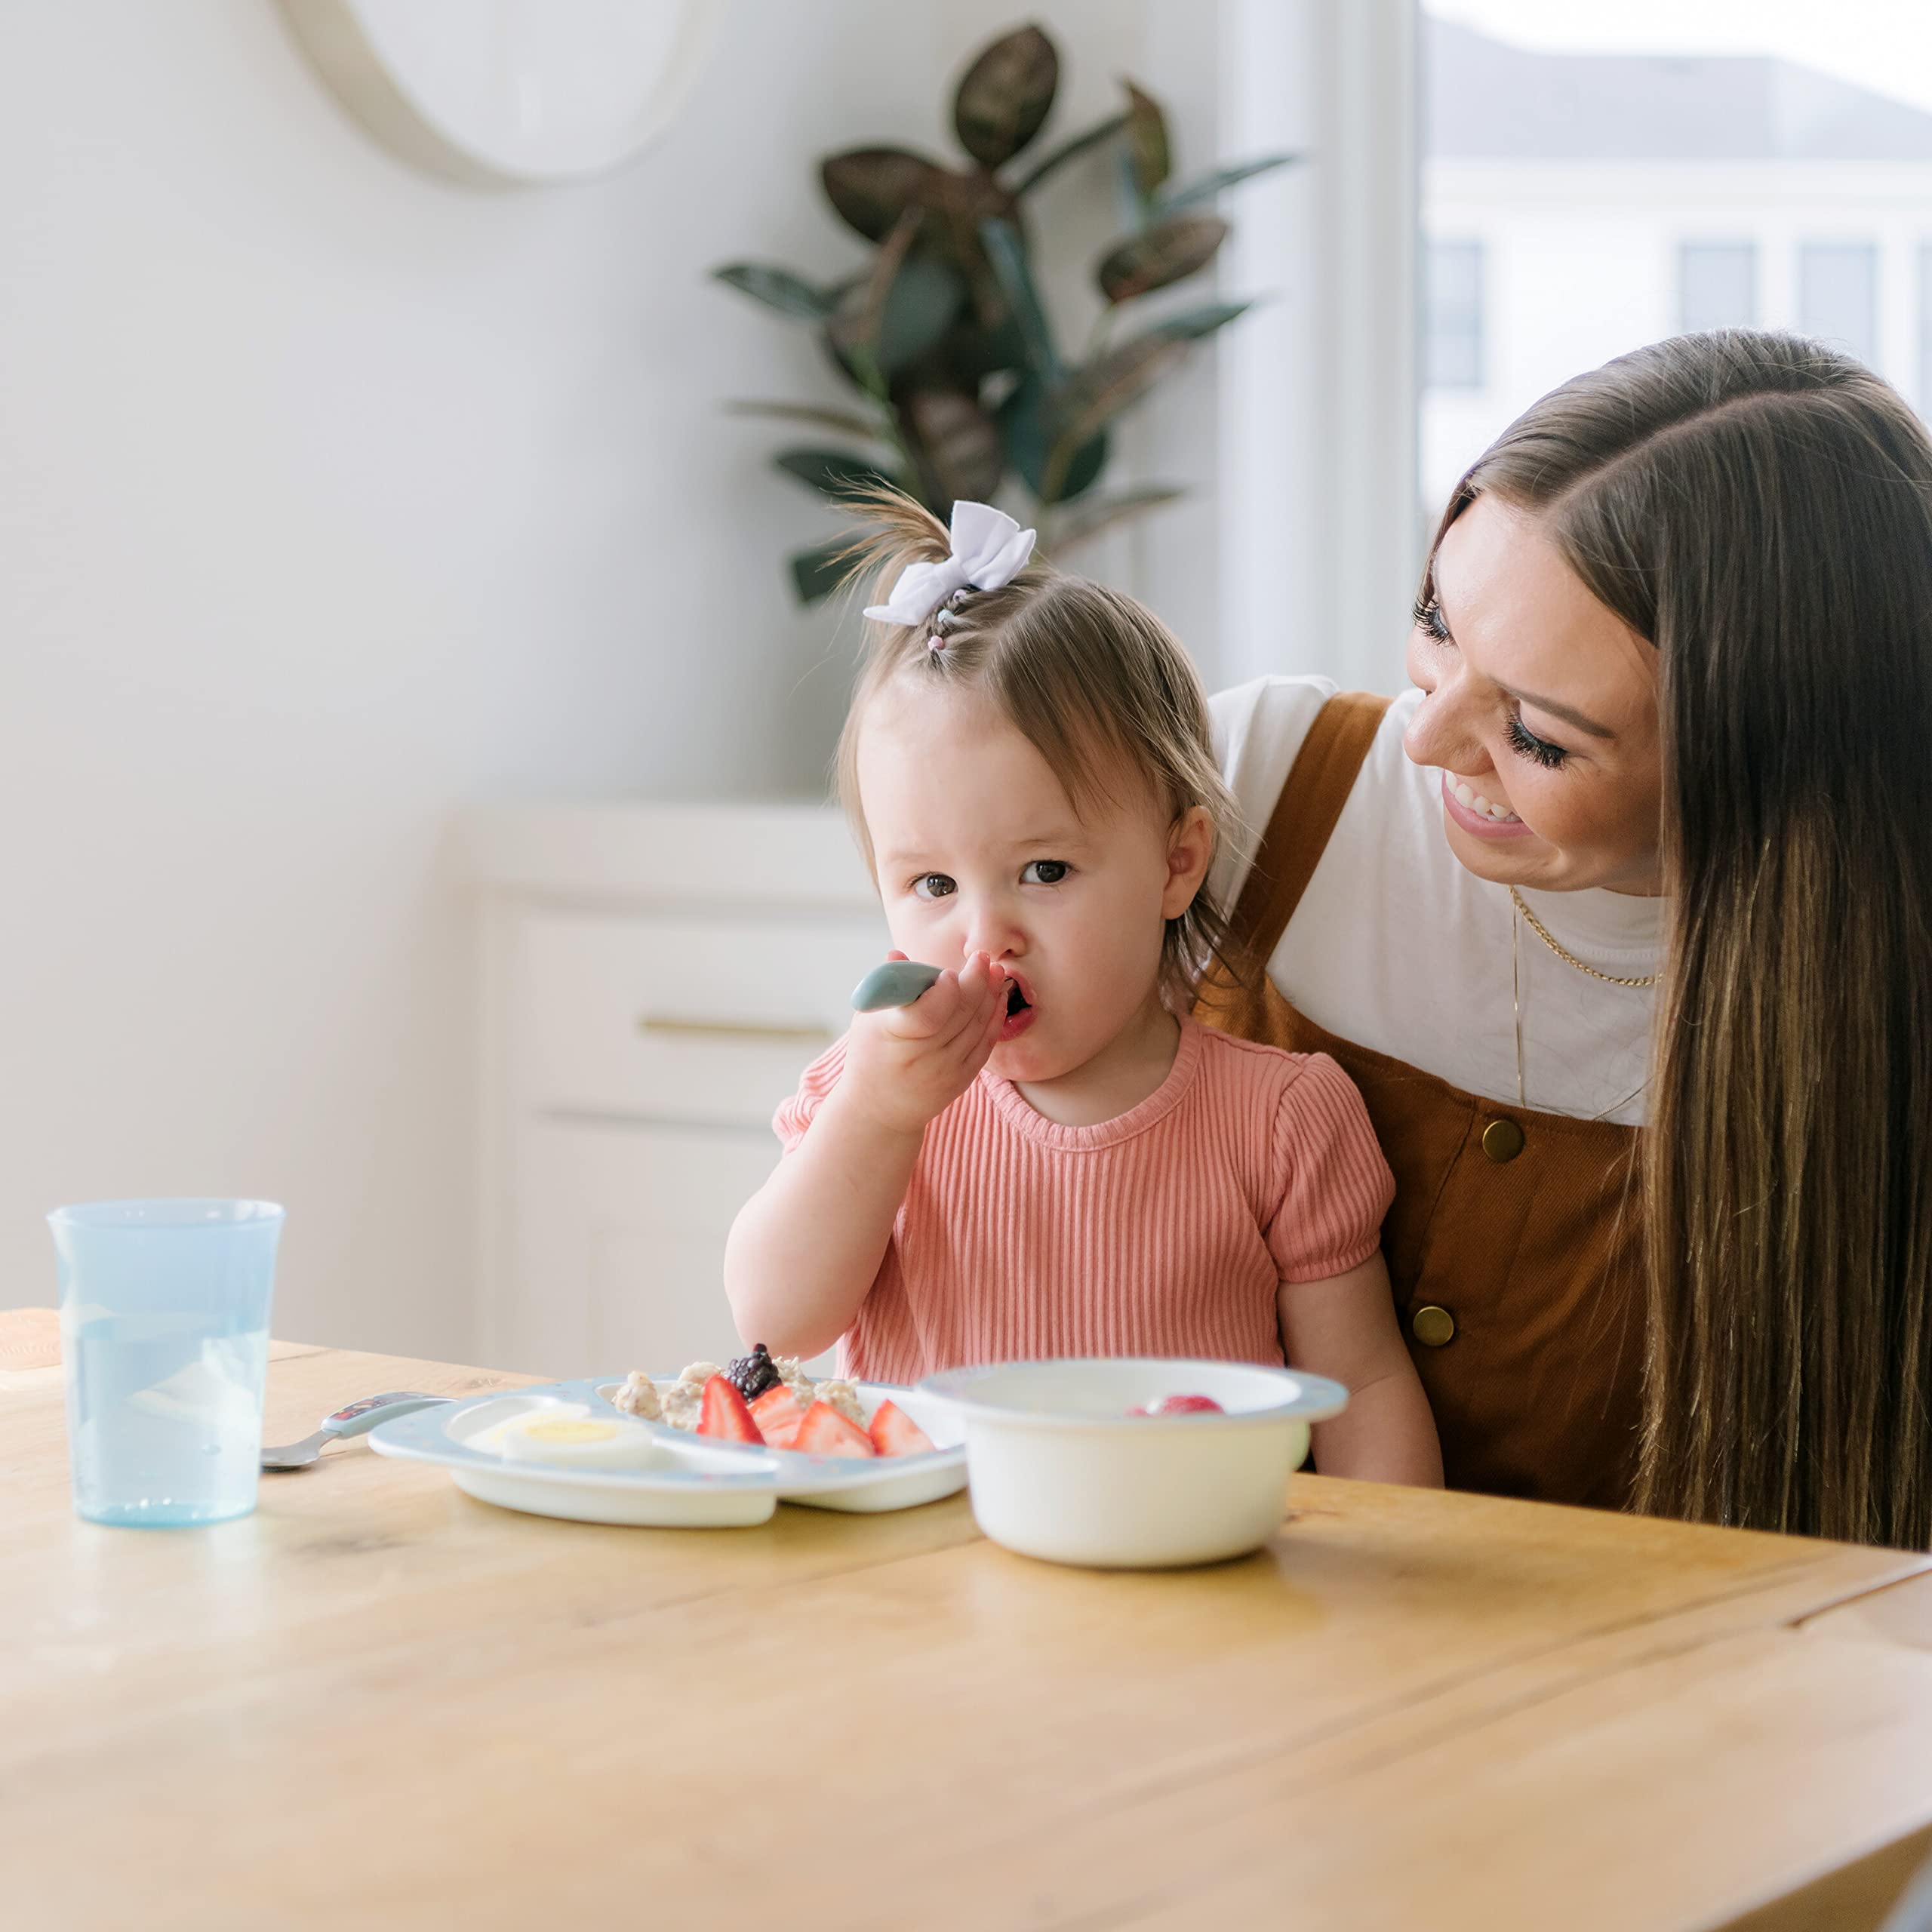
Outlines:
{"label": "toddler's raised hand gripping spoon handle at her mouth", "polygon": [[889,1132],[918,1134],[974,1084],[1005,1020],[1007,974],[974,952],[910,1007],[854,1014],[838,1092]]}

